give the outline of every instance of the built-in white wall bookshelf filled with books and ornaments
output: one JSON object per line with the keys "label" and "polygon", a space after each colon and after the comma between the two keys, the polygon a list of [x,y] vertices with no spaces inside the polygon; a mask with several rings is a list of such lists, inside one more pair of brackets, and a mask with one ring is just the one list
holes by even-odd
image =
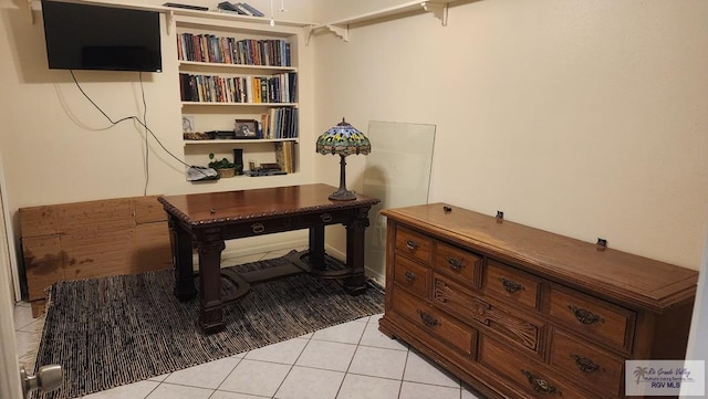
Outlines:
{"label": "built-in white wall bookshelf filled with books and ornaments", "polygon": [[185,160],[209,154],[242,170],[279,164],[298,172],[300,138],[296,42],[292,29],[177,18],[175,21]]}

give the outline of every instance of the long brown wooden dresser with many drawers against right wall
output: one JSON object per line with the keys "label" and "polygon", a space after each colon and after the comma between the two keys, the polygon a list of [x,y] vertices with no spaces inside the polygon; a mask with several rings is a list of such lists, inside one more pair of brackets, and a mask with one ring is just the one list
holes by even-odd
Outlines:
{"label": "long brown wooden dresser with many drawers against right wall", "polygon": [[683,359],[698,272],[444,203],[386,209],[379,329],[490,398],[622,398]]}

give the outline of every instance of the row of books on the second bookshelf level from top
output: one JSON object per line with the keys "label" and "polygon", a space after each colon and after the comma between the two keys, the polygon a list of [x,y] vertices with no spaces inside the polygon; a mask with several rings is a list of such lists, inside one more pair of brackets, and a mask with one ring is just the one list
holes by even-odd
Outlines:
{"label": "row of books on the second bookshelf level from top", "polygon": [[179,74],[183,102],[201,103],[295,103],[298,75],[221,77]]}

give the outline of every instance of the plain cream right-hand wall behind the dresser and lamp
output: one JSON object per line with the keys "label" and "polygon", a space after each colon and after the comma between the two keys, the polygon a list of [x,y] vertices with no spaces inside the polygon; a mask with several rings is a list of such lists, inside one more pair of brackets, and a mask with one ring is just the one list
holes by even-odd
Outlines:
{"label": "plain cream right-hand wall behind the dresser and lamp", "polygon": [[[366,7],[339,1],[332,20]],[[435,124],[430,201],[698,269],[707,14],[701,0],[486,0],[451,7],[447,27],[417,14],[348,42],[319,32],[314,125]],[[365,160],[348,158],[361,183]],[[335,160],[315,162],[335,183]]]}

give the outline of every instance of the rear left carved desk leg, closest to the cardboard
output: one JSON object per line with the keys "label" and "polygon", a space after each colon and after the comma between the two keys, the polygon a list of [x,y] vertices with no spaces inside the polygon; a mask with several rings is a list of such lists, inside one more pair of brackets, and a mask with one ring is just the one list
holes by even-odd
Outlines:
{"label": "rear left carved desk leg, closest to the cardboard", "polygon": [[171,214],[168,216],[167,224],[175,267],[175,296],[179,301],[188,301],[197,295],[191,261],[191,234],[183,229]]}

